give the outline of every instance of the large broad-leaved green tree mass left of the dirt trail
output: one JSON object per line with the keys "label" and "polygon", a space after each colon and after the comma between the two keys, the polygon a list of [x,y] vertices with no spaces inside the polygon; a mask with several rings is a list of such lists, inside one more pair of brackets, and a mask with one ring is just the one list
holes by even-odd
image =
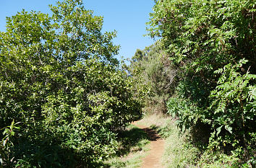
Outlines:
{"label": "large broad-leaved green tree mass left of the dirt trail", "polygon": [[114,130],[140,117],[143,88],[114,58],[115,32],[82,1],[50,7],[18,12],[0,32],[4,167],[95,167],[115,152]]}

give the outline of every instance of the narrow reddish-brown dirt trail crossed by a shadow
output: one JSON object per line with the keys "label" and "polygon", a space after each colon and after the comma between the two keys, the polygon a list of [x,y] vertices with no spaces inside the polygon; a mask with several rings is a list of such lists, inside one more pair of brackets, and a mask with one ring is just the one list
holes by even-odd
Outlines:
{"label": "narrow reddish-brown dirt trail crossed by a shadow", "polygon": [[140,168],[162,168],[163,165],[161,164],[161,157],[164,152],[164,140],[153,129],[147,128],[144,125],[139,125],[136,121],[132,124],[148,133],[150,140],[150,154],[145,156],[142,160],[142,166]]}

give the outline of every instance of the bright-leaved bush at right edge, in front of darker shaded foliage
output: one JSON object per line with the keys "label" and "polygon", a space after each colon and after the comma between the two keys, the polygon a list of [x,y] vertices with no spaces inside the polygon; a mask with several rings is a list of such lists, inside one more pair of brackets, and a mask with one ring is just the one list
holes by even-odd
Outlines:
{"label": "bright-leaved bush at right edge, in front of darker shaded foliage", "polygon": [[237,72],[246,62],[243,59],[233,66],[229,63],[216,71],[221,77],[218,86],[210,94],[213,102],[209,107],[213,110],[210,117],[216,128],[216,136],[224,131],[229,141],[238,139],[240,145],[246,145],[251,138],[249,134],[256,129],[256,87],[251,83],[256,75],[249,74],[249,71],[245,74]]}

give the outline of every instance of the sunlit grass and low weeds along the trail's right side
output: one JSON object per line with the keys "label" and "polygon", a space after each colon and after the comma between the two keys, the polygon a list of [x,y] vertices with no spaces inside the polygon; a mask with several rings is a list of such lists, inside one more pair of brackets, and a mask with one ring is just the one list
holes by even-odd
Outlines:
{"label": "sunlit grass and low weeds along the trail's right side", "polygon": [[168,115],[146,115],[140,120],[141,125],[155,129],[165,138],[165,152],[162,163],[165,167],[240,167],[236,154],[226,155],[222,151],[210,151],[198,148],[191,141],[191,135],[181,133],[175,120]]}

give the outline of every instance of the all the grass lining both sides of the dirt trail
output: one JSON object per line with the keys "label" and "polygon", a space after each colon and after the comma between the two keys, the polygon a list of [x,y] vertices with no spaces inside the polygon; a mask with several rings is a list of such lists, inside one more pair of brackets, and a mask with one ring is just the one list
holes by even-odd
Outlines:
{"label": "all the grass lining both sides of the dirt trail", "polygon": [[[165,138],[161,160],[165,167],[241,167],[236,154],[228,156],[222,151],[197,148],[189,133],[180,133],[175,120],[168,115],[146,115],[137,124],[150,127]],[[119,133],[119,139],[119,152],[105,162],[106,167],[140,167],[149,150],[147,134],[135,125],[129,125],[127,130]]]}

